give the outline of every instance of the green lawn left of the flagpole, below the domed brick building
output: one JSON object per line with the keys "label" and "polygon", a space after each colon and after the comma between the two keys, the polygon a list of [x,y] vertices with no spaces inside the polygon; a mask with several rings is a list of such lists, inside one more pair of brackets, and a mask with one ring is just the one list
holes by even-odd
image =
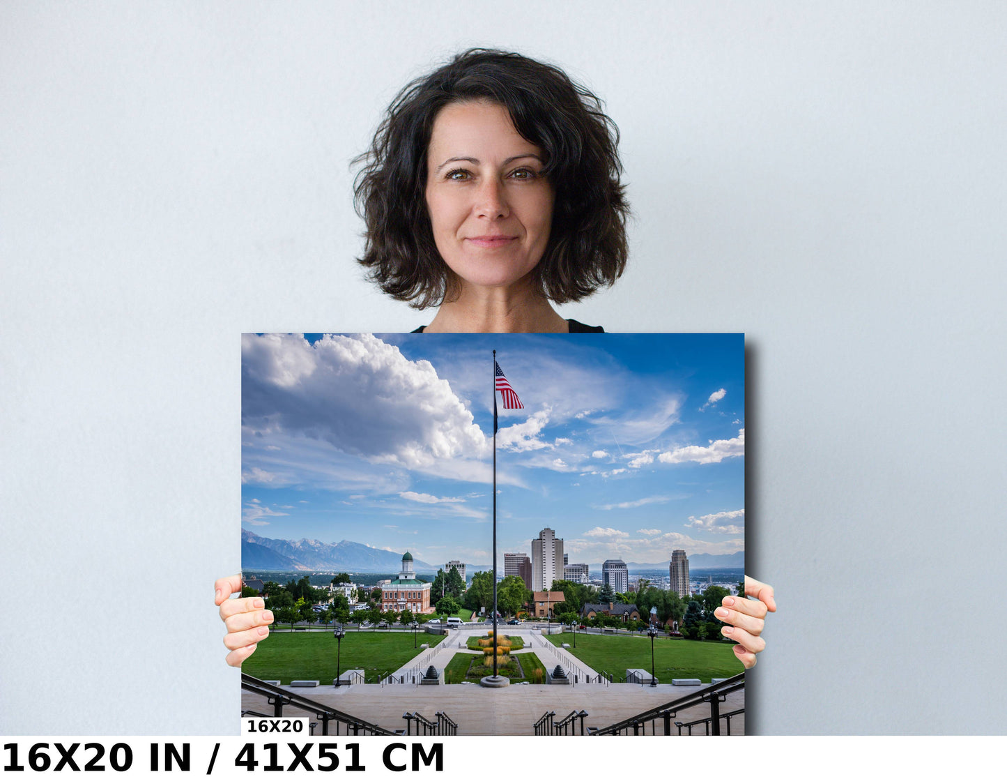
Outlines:
{"label": "green lawn left of the flagpole, below the domed brick building", "polygon": [[[418,634],[420,644],[434,646],[443,636]],[[331,684],[335,678],[336,642],[330,631],[324,633],[274,633],[242,665],[242,670],[260,679],[318,679]],[[394,671],[416,657],[422,649],[413,649],[409,633],[347,631],[342,639],[339,668],[363,668],[369,682]]]}

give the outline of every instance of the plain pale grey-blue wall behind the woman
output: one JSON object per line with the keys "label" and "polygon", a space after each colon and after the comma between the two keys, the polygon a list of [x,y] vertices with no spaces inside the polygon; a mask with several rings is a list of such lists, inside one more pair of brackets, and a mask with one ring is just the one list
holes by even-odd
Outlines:
{"label": "plain pale grey-blue wall behind the woman", "polygon": [[1005,6],[362,6],[0,7],[0,732],[238,733],[239,334],[429,320],[348,162],[486,44],[622,131],[632,264],[563,312],[747,334],[754,730],[1003,733]]}

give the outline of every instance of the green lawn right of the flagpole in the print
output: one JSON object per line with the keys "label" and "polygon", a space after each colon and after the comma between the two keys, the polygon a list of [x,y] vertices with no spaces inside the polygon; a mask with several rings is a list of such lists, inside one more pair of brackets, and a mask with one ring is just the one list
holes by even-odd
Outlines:
{"label": "green lawn right of the flagpole in the print", "polygon": [[[646,636],[605,636],[577,634],[573,648],[570,633],[546,636],[556,646],[570,644],[570,652],[595,671],[612,674],[614,681],[625,681],[626,668],[651,670],[651,639]],[[714,641],[684,641],[659,638],[654,642],[655,672],[658,679],[726,678],[741,673],[744,666],[735,657],[731,644]],[[254,657],[254,655],[253,655]]]}

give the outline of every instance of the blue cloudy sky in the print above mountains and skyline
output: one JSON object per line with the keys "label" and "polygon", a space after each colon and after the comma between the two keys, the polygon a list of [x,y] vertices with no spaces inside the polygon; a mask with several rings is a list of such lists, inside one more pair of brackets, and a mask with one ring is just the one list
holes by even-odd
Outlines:
{"label": "blue cloudy sky in the print above mountains and skyline", "polygon": [[[744,548],[741,335],[245,335],[242,526],[491,564]],[[498,398],[498,396],[497,396]]]}

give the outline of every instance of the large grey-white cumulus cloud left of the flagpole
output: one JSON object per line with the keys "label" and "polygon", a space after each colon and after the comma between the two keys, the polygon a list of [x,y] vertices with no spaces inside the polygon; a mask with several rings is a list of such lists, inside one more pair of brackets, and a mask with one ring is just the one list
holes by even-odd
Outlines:
{"label": "large grey-white cumulus cloud left of the flagpole", "polygon": [[371,462],[480,458],[486,439],[448,383],[374,336],[242,337],[242,423],[252,436],[326,441]]}

